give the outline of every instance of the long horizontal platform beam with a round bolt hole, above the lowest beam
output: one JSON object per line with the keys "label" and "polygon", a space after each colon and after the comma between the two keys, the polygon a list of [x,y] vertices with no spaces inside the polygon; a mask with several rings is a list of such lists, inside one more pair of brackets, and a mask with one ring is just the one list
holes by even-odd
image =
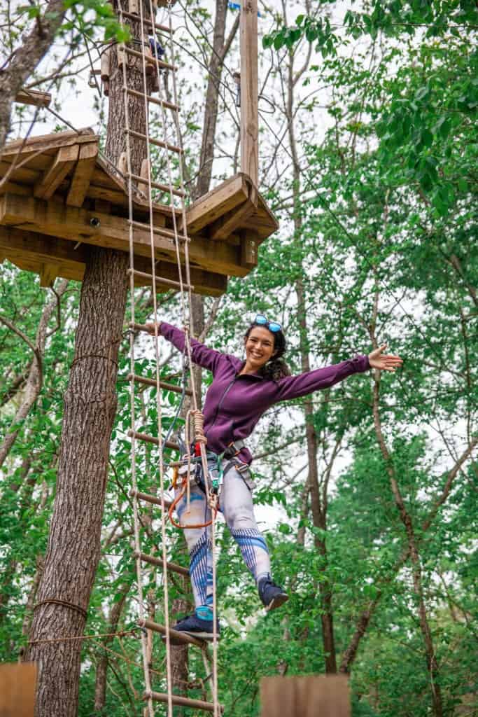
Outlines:
{"label": "long horizontal platform beam with a round bolt hole, above the lowest beam", "polygon": [[[98,219],[99,224],[92,226],[91,219]],[[75,243],[80,241],[129,252],[128,219],[54,201],[4,194],[0,197],[0,224],[18,225],[32,232],[70,239]],[[135,254],[150,257],[150,232],[135,230],[134,247]],[[176,263],[173,239],[155,235],[154,247],[158,259]],[[246,276],[248,273],[247,268],[240,264],[238,248],[226,242],[213,243],[209,239],[194,237],[188,251],[193,266],[231,276]],[[182,248],[180,254],[183,255]],[[197,288],[196,281],[194,285]]]}

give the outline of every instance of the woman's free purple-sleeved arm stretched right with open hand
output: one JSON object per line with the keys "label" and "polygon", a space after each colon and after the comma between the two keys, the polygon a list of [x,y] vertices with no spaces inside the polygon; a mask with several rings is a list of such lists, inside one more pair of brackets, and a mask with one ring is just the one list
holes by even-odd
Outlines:
{"label": "woman's free purple-sleeved arm stretched right with open hand", "polygon": [[368,369],[380,369],[381,371],[395,371],[401,366],[402,359],[399,356],[384,355],[383,350],[386,344],[376,348],[368,356],[355,356],[355,359],[341,361],[340,364],[326,366],[324,369],[306,371],[298,376],[285,376],[277,381],[276,401],[287,401],[301,396],[307,396],[313,391],[328,389],[338,384],[347,376],[360,374]]}

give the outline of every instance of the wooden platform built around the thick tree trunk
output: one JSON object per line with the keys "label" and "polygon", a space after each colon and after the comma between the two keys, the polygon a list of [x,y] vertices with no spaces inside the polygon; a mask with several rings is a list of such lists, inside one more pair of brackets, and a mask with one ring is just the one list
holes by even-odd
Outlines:
{"label": "wooden platform built around the thick tree trunk", "polygon": [[[87,244],[129,252],[128,188],[100,156],[98,141],[90,129],[67,131],[11,142],[0,155],[0,181],[6,177],[0,186],[0,260],[37,272],[42,285],[57,276],[82,280]],[[177,280],[173,211],[153,204],[156,274]],[[133,219],[135,269],[149,272],[150,230],[140,226],[149,221],[149,205],[142,191],[133,197]],[[176,210],[182,233],[181,220]],[[277,227],[245,174],[201,197],[186,213],[194,290],[224,293],[228,276],[246,276],[254,268],[257,247]]]}

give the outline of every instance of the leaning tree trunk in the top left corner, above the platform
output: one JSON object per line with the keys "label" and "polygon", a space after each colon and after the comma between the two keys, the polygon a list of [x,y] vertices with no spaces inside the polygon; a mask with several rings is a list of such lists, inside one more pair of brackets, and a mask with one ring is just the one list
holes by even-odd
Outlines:
{"label": "leaning tree trunk in the top left corner, above the platform", "polygon": [[64,14],[64,0],[50,0],[43,14],[34,20],[24,43],[11,56],[6,70],[0,73],[0,151],[10,130],[11,105],[16,94],[52,46]]}

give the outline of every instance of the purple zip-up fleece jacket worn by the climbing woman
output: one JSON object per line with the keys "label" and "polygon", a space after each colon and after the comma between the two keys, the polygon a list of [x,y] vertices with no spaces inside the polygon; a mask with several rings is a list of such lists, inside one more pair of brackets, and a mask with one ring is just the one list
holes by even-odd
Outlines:
{"label": "purple zip-up fleece jacket worn by the climbing woman", "polygon": [[[160,333],[183,353],[183,331],[161,321]],[[258,373],[239,376],[245,361],[207,348],[194,338],[191,339],[191,357],[195,364],[209,369],[214,376],[204,402],[204,432],[208,449],[215,453],[221,453],[231,441],[250,436],[262,414],[279,401],[327,389],[350,374],[362,373],[370,368],[368,356],[355,356],[355,359],[341,361],[325,369],[285,376],[279,381],[264,379]],[[239,458],[247,463],[252,461],[247,448],[242,449]]]}

